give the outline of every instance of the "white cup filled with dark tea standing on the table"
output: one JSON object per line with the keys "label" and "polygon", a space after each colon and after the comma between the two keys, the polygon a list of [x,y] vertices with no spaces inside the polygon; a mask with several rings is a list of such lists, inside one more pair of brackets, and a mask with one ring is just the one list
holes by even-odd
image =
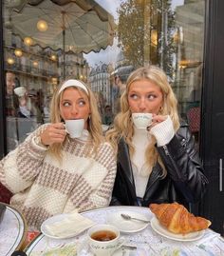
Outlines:
{"label": "white cup filled with dark tea standing on the table", "polygon": [[96,256],[111,256],[124,243],[120,230],[113,225],[92,226],[88,229],[87,237],[88,245]]}

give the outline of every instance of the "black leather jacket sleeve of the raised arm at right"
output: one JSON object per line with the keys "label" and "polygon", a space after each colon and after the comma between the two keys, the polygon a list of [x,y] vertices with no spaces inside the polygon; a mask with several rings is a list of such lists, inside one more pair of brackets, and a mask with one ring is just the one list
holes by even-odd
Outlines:
{"label": "black leather jacket sleeve of the raised arm at right", "polygon": [[166,146],[158,148],[167,175],[173,180],[178,191],[189,203],[201,200],[208,185],[203,174],[195,139],[187,126],[178,129],[177,134]]}

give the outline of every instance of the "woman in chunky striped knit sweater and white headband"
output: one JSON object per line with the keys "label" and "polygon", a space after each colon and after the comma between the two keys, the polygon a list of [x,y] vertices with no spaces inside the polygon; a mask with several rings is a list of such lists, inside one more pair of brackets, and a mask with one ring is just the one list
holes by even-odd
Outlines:
{"label": "woman in chunky striped knit sweater and white headband", "polygon": [[[84,119],[80,138],[66,133],[67,119]],[[0,162],[0,181],[13,193],[10,205],[34,228],[55,214],[108,206],[115,176],[114,151],[103,140],[94,95],[73,79],[54,93],[51,123]]]}

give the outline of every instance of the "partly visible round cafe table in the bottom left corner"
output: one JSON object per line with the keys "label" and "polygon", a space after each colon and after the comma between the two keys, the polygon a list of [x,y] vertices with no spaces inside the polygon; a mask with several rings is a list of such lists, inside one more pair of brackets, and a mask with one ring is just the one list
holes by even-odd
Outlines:
{"label": "partly visible round cafe table in the bottom left corner", "polygon": [[10,256],[14,250],[21,248],[25,241],[27,225],[23,215],[14,207],[6,206],[0,224],[0,255]]}

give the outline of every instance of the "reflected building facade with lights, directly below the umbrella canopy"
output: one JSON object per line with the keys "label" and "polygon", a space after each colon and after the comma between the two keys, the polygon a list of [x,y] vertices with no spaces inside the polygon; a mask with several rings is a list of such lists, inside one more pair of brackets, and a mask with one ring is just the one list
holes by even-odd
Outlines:
{"label": "reflected building facade with lights, directly below the umbrella canopy", "polygon": [[[6,32],[6,31],[5,31]],[[62,79],[63,66],[68,67],[68,77],[85,79],[88,74],[88,65],[82,53],[68,53],[65,63],[62,61],[62,50],[42,49],[40,46],[26,46],[19,36],[11,34],[5,45],[5,67],[16,73],[21,86],[28,89],[43,89],[47,95]],[[22,55],[15,55],[15,50],[21,49]],[[8,62],[9,57],[13,63]]]}

